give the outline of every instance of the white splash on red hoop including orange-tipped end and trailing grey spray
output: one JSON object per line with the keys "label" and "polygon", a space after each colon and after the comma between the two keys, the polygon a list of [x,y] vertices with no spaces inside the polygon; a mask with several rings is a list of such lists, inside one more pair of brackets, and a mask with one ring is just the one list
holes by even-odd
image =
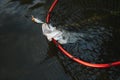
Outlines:
{"label": "white splash on red hoop including orange-tipped end and trailing grey spray", "polygon": [[57,29],[51,24],[44,23],[40,19],[34,18],[33,16],[32,21],[42,24],[43,35],[45,35],[49,41],[52,41],[52,38],[54,38],[61,44],[74,43],[78,40],[79,36],[81,36],[81,34],[79,33],[68,32],[63,29]]}

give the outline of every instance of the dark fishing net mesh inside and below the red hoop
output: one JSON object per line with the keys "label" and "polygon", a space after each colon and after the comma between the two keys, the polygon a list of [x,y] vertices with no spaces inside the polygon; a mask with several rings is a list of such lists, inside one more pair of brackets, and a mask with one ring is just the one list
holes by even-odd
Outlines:
{"label": "dark fishing net mesh inside and below the red hoop", "polygon": [[[47,0],[51,6],[54,0]],[[49,4],[49,5],[48,5]],[[50,23],[70,33],[76,42],[62,45],[75,57],[92,63],[120,60],[120,1],[59,0]],[[119,80],[119,68],[108,70],[81,66],[59,52],[60,62],[75,80]]]}

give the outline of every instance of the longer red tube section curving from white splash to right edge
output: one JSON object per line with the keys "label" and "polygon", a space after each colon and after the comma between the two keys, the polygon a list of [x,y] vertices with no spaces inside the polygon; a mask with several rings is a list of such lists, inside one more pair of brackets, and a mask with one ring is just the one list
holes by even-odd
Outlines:
{"label": "longer red tube section curving from white splash to right edge", "polygon": [[112,66],[118,66],[120,65],[120,61],[116,61],[116,62],[112,62],[112,63],[106,63],[106,64],[93,64],[93,63],[89,63],[86,61],[83,61],[79,58],[74,57],[73,55],[71,55],[69,52],[67,52],[55,39],[52,39],[53,43],[55,45],[57,45],[58,49],[67,57],[69,57],[70,59],[72,59],[73,61],[82,64],[84,66],[87,67],[93,67],[93,68],[109,68]]}

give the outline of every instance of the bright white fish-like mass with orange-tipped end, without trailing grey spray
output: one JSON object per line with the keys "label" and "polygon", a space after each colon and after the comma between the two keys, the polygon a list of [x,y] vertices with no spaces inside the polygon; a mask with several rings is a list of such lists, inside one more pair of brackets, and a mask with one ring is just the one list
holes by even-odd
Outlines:
{"label": "bright white fish-like mass with orange-tipped end, without trailing grey spray", "polygon": [[60,44],[66,44],[68,42],[68,37],[64,36],[64,31],[58,30],[51,24],[47,24],[40,19],[35,18],[34,16],[32,16],[32,21],[38,24],[42,24],[42,33],[47,37],[49,41],[52,41],[52,38],[54,38]]}

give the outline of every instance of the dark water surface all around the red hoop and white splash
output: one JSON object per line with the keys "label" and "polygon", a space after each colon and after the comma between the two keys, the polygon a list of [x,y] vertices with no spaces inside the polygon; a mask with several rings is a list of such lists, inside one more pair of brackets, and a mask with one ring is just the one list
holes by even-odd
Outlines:
{"label": "dark water surface all around the red hoop and white splash", "polygon": [[[59,51],[42,35],[41,25],[32,23],[30,18],[35,15],[45,21],[49,3],[48,0],[0,0],[0,79],[58,80],[59,77],[71,80],[61,77],[69,75],[73,80],[120,80],[119,67],[88,68],[61,53],[55,54]],[[83,35],[76,43],[63,47],[76,57],[94,63],[120,60],[119,4],[113,0],[60,2],[53,13],[52,24]],[[66,73],[57,65],[62,65]],[[53,67],[59,68],[57,72],[62,74],[54,73]],[[47,78],[51,72],[56,78]]]}

